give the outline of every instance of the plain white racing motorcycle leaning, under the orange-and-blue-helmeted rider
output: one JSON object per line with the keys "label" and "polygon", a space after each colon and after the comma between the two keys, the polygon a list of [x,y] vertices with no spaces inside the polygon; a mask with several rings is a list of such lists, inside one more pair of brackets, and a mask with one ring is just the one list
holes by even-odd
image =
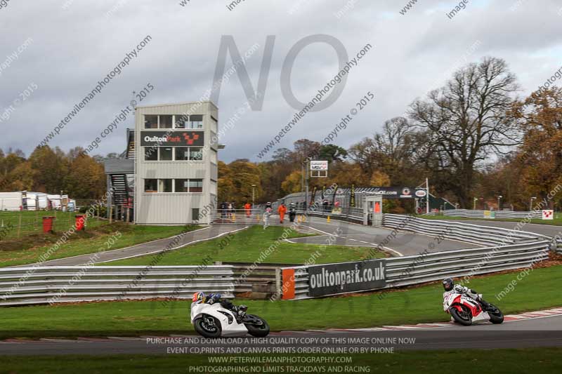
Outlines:
{"label": "plain white racing motorcycle leaning, under the orange-and-blue-helmeted rider", "polygon": [[221,336],[243,336],[249,333],[256,338],[269,334],[269,325],[265,319],[254,314],[245,314],[246,309],[239,307],[243,316],[221,307],[221,304],[192,302],[191,323],[198,334],[205,338]]}

